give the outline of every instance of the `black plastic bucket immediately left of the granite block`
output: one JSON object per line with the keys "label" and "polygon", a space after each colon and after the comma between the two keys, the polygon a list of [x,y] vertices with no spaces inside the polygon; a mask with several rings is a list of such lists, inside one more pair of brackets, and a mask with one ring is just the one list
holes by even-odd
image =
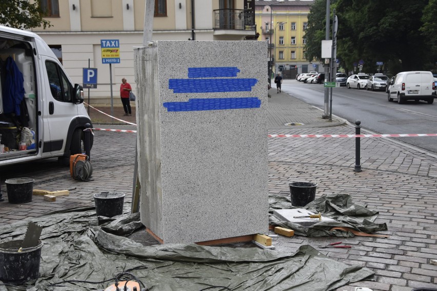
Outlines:
{"label": "black plastic bucket immediately left of the granite block", "polygon": [[125,196],[126,194],[121,192],[101,192],[94,194],[95,214],[97,216],[106,217],[123,214]]}

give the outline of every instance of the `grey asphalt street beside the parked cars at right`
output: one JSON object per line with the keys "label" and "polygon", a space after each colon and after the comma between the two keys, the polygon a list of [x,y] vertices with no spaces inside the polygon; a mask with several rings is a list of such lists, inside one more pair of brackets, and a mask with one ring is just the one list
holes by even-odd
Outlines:
{"label": "grey asphalt street beside the parked cars at right", "polygon": [[[284,80],[283,91],[311,105],[324,108],[323,84],[309,84],[294,79]],[[362,127],[382,134],[435,133],[437,127],[436,104],[424,101],[405,104],[388,102],[385,91],[365,89],[332,89],[332,114],[351,123],[360,120]],[[437,138],[399,138],[402,142],[437,153]]]}

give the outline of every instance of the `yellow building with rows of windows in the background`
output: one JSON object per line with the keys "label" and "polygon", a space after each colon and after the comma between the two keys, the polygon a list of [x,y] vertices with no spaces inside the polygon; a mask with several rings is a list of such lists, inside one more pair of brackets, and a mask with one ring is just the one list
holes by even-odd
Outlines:
{"label": "yellow building with rows of windows in the background", "polygon": [[268,42],[272,73],[290,69],[296,73],[319,71],[320,64],[308,62],[304,55],[305,29],[312,3],[311,0],[255,1],[258,40]]}

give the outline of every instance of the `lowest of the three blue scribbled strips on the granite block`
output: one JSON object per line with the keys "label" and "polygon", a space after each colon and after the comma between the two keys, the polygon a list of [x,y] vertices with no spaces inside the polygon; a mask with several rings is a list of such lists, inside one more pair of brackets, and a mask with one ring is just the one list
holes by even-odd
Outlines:
{"label": "lowest of the three blue scribbled strips on the granite block", "polygon": [[260,108],[261,100],[256,97],[198,98],[188,99],[188,102],[164,102],[163,106],[168,112]]}

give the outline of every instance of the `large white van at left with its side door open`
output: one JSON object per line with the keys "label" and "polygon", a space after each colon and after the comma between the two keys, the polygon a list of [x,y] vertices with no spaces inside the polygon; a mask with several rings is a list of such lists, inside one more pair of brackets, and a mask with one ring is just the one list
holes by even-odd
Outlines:
{"label": "large white van at left with its side door open", "polygon": [[83,101],[41,37],[0,26],[0,166],[82,153]]}

